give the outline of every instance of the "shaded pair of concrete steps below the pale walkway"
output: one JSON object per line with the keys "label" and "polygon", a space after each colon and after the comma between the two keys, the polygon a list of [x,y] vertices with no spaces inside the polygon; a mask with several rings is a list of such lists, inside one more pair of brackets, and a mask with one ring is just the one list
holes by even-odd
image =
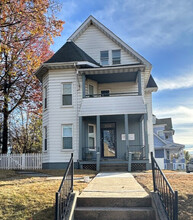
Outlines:
{"label": "shaded pair of concrete steps below the pale walkway", "polygon": [[151,198],[78,198],[74,220],[155,220]]}

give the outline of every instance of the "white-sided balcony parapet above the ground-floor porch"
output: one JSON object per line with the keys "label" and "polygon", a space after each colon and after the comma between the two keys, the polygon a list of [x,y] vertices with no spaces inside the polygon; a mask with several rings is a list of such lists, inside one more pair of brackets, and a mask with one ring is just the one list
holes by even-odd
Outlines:
{"label": "white-sided balcony parapet above the ground-floor porch", "polygon": [[79,116],[144,114],[142,96],[84,98]]}

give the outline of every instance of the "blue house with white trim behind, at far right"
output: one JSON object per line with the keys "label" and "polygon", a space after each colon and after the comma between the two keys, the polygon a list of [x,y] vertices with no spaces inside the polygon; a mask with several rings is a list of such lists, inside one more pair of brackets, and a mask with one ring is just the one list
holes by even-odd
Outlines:
{"label": "blue house with white trim behind, at far right", "polygon": [[184,145],[174,143],[172,119],[153,116],[155,158],[161,169],[184,170]]}

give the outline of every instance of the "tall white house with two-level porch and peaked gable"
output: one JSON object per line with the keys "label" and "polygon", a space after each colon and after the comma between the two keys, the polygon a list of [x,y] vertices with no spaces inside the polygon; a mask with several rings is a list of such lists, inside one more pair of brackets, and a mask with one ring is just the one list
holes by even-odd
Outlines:
{"label": "tall white house with two-level porch and peaked gable", "polygon": [[[90,16],[38,70],[43,83],[43,168],[128,163],[153,151],[151,64]],[[128,140],[129,139],[129,140]]]}

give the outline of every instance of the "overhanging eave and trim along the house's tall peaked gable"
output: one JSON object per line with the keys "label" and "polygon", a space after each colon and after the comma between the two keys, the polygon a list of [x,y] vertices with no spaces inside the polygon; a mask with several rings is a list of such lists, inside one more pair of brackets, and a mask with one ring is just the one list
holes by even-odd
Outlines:
{"label": "overhanging eave and trim along the house's tall peaked gable", "polygon": [[107,37],[118,44],[121,48],[126,50],[131,56],[135,57],[140,63],[147,65],[151,68],[151,63],[148,62],[144,57],[138,54],[130,46],[128,46],[124,41],[117,37],[112,31],[101,24],[96,18],[90,15],[82,25],[68,38],[68,41],[75,41],[90,25],[96,26],[100,31],[102,31]]}

